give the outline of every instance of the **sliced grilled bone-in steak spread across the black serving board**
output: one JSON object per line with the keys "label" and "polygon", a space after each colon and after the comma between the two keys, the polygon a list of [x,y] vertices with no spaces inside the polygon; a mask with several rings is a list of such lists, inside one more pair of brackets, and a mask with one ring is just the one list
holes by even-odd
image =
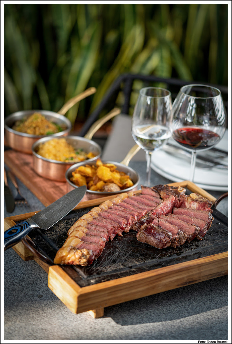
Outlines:
{"label": "sliced grilled bone-in steak spread across the black serving board", "polygon": [[181,187],[141,185],[141,194],[120,194],[78,219],[54,263],[92,264],[106,241],[129,229],[138,232],[139,241],[159,249],[180,246],[194,237],[201,240],[213,221],[211,206],[197,194],[186,196]]}

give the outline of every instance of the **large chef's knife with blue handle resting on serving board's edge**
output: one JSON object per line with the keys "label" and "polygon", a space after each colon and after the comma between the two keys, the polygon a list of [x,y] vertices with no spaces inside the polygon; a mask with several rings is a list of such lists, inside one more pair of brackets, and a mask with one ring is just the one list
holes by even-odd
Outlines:
{"label": "large chef's knife with blue handle resting on serving board's edge", "polygon": [[32,229],[49,229],[69,213],[84,197],[86,186],[77,187],[39,213],[4,232],[4,250],[17,244]]}

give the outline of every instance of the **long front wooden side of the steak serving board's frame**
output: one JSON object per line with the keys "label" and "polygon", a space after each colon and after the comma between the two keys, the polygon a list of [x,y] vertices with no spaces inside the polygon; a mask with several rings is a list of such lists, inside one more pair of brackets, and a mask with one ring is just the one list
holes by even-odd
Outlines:
{"label": "long front wooden side of the steak serving board's frame", "polygon": [[228,252],[83,287],[77,313],[228,275]]}

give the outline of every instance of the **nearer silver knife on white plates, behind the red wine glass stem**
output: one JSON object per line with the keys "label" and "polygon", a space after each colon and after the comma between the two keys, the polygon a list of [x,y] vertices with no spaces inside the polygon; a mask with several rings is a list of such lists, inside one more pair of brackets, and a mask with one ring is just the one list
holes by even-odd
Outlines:
{"label": "nearer silver knife on white plates, behind the red wine glass stem", "polygon": [[[167,153],[173,155],[175,154],[176,156],[179,156],[179,154],[184,155],[185,157],[188,157],[189,159],[191,159],[191,153],[188,151],[185,151],[181,148],[178,148],[177,146],[171,144],[171,143],[166,143],[166,145],[164,145],[162,147],[162,149],[164,149]],[[202,162],[204,162],[205,165],[208,165],[209,167],[215,167],[215,168],[219,168],[222,170],[228,170],[228,165],[223,164],[223,163],[219,163],[216,162],[212,159],[209,159],[207,157],[203,157],[201,155],[197,154],[196,160],[199,160]]]}

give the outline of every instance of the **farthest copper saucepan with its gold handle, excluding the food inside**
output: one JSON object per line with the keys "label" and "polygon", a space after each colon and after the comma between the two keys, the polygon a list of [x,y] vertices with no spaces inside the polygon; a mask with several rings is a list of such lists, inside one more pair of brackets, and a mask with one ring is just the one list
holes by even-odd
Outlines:
{"label": "farthest copper saucepan with its gold handle, excluding the food inside", "polygon": [[41,139],[42,137],[47,137],[47,135],[31,135],[12,129],[12,126],[16,121],[21,120],[23,118],[27,118],[30,115],[34,114],[34,112],[39,112],[41,115],[44,115],[46,119],[51,120],[54,123],[57,123],[60,126],[64,126],[66,128],[61,132],[52,134],[51,136],[53,138],[67,136],[72,129],[72,123],[68,118],[64,117],[64,115],[72,106],[78,103],[78,101],[86,98],[87,96],[95,92],[95,87],[90,87],[86,89],[84,92],[68,100],[58,112],[47,110],[23,110],[14,112],[13,114],[7,116],[7,118],[4,120],[6,144],[12,149],[17,150],[19,152],[32,154],[32,144],[35,141]]}

